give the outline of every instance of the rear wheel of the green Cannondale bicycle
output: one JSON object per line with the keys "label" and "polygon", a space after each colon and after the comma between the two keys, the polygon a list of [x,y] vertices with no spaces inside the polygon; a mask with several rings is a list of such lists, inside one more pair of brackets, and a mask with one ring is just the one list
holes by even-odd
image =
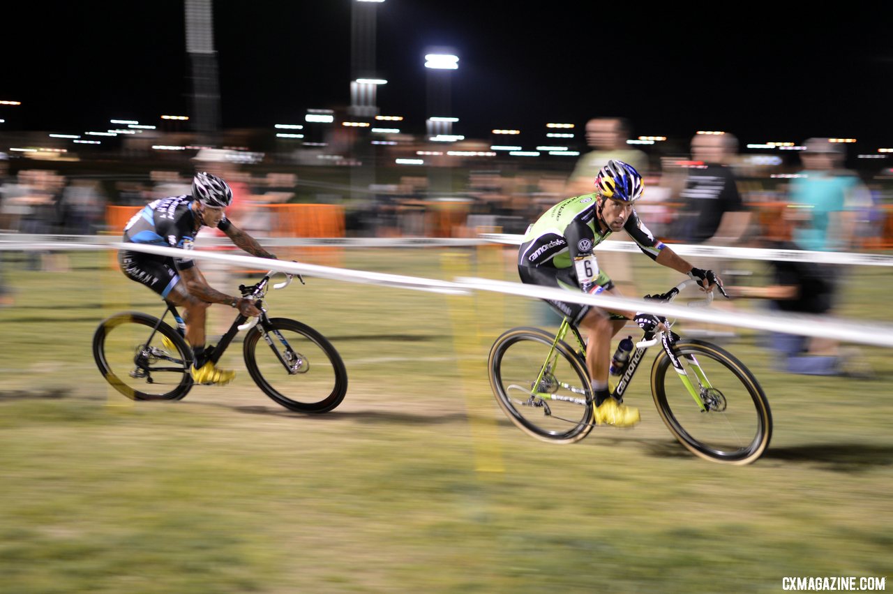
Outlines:
{"label": "rear wheel of the green Cannondale bicycle", "polygon": [[[550,370],[540,387],[554,395],[559,395],[563,389],[559,396],[572,397],[578,402],[547,400],[531,392],[553,342],[554,333],[538,328],[520,327],[505,331],[490,348],[490,387],[499,407],[519,429],[543,441],[574,443],[585,438],[594,426],[592,389],[585,364],[567,343],[559,341],[555,345],[558,355],[555,369]],[[556,373],[559,377],[555,377]],[[561,381],[581,393],[562,388]],[[510,389],[526,398],[516,399],[509,393]]]}

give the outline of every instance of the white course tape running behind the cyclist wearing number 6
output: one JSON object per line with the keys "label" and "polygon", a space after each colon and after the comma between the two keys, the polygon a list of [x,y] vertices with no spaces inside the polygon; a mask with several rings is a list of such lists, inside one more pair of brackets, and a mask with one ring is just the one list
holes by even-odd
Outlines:
{"label": "white course tape running behind the cyclist wearing number 6", "polygon": [[[481,233],[478,237],[493,243],[520,246],[522,235],[505,233]],[[667,244],[679,255],[705,258],[725,258],[727,260],[774,260],[778,262],[813,262],[820,264],[861,264],[865,266],[893,266],[893,255],[859,254],[855,252],[810,252],[797,249],[763,249],[757,247],[698,246],[690,244]],[[603,241],[596,251],[640,252],[638,244],[632,241]]]}

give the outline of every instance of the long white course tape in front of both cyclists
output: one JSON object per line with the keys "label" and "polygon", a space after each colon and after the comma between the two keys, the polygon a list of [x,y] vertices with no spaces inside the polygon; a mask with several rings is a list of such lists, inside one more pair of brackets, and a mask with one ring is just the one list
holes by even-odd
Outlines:
{"label": "long white course tape in front of both cyclists", "polygon": [[[620,242],[612,242],[620,243]],[[21,243],[16,247],[22,249]],[[754,330],[772,330],[786,332],[801,336],[817,336],[829,339],[838,339],[845,342],[874,345],[877,347],[893,347],[893,325],[881,323],[854,322],[841,320],[832,316],[819,316],[807,314],[752,314],[747,312],[730,313],[724,310],[710,309],[709,307],[689,307],[686,305],[672,305],[633,299],[629,297],[611,297],[605,295],[588,295],[575,293],[563,289],[551,287],[538,287],[525,285],[520,282],[506,282],[504,280],[488,280],[462,277],[454,282],[447,280],[423,279],[419,277],[386,274],[382,272],[367,272],[319,266],[315,264],[300,264],[284,260],[270,260],[258,258],[252,255],[221,254],[220,252],[190,250],[187,254],[175,247],[146,246],[131,243],[113,243],[107,245],[81,244],[66,242],[49,242],[46,244],[29,244],[29,249],[128,249],[131,251],[145,252],[147,254],[167,255],[171,257],[217,260],[229,264],[245,266],[255,270],[275,270],[292,274],[305,274],[307,276],[341,280],[345,282],[359,282],[374,284],[398,289],[413,289],[446,293],[450,295],[469,295],[472,290],[486,290],[515,295],[517,297],[530,297],[538,299],[557,299],[572,303],[597,305],[607,309],[619,309],[623,311],[647,311],[652,314],[685,320],[697,320],[699,322],[719,323],[726,326],[739,328],[751,328]],[[0,242],[0,249],[4,244]],[[637,247],[638,249],[638,247]],[[670,289],[669,287],[663,289]],[[717,297],[723,298],[723,297]]]}

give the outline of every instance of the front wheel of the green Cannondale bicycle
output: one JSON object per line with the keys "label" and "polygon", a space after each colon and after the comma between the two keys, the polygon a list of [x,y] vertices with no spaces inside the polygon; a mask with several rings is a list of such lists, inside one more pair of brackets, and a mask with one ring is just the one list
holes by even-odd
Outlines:
{"label": "front wheel of the green Cannondale bicycle", "polygon": [[[651,390],[673,436],[696,456],[714,462],[751,464],[763,456],[772,439],[772,411],[754,374],[737,357],[703,340],[681,339],[674,352],[707,410],[702,411],[681,381],[667,381],[672,362],[662,350],[651,367]],[[704,369],[711,388],[691,371],[689,356]]]}

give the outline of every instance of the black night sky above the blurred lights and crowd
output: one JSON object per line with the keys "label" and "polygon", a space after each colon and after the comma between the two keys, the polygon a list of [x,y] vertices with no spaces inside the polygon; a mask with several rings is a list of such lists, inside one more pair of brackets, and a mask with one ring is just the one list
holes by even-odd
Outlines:
{"label": "black night sky above the blurred lights and crowd", "polygon": [[[864,150],[893,146],[889,4],[726,4],[724,15],[717,5],[387,0],[376,8],[376,66],[388,79],[378,104],[421,132],[425,49],[453,46],[454,131],[469,138],[622,115],[637,135],[728,130],[743,142],[832,136],[859,138]],[[111,118],[189,113],[181,1],[0,11],[0,100],[24,104],[0,106],[0,130],[79,133]],[[301,123],[307,108],[347,105],[350,15],[349,0],[215,3],[223,126]]]}

